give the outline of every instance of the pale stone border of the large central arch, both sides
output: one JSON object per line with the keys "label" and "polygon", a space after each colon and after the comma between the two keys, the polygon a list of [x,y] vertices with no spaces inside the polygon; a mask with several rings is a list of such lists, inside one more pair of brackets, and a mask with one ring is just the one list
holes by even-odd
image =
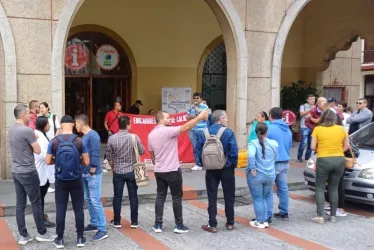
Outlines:
{"label": "pale stone border of the large central arch, both sides", "polygon": [[[56,26],[52,49],[52,105],[58,115],[63,113],[64,49],[73,19],[84,1],[71,0],[62,10]],[[231,0],[205,0],[221,26],[228,63],[228,113],[233,114],[229,126],[240,137],[239,146],[245,146],[247,115],[247,44],[244,28]],[[235,115],[234,115],[235,114]]]}

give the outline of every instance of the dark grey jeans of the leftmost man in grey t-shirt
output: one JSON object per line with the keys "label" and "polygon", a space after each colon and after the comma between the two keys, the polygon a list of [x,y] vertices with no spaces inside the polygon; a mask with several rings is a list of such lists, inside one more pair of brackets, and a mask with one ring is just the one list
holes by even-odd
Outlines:
{"label": "dark grey jeans of the leftmost man in grey t-shirt", "polygon": [[44,227],[44,215],[40,199],[40,181],[38,172],[35,170],[23,174],[12,173],[12,175],[14,186],[16,188],[16,219],[19,234],[24,237],[28,234],[25,222],[25,209],[27,197],[29,197],[36,228],[39,234],[44,235],[47,232],[47,229]]}

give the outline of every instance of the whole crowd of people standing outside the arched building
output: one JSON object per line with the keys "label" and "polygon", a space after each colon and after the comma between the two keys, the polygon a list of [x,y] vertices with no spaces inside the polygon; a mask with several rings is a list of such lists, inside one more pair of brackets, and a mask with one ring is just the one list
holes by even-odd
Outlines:
{"label": "whole crowd of people standing outside the arched building", "polygon": [[[193,95],[193,105],[187,112],[187,122],[181,126],[170,126],[167,112],[153,111],[156,127],[148,135],[148,150],[154,164],[157,184],[155,201],[156,233],[163,231],[163,210],[170,188],[175,217],[175,233],[187,233],[183,223],[183,177],[178,159],[178,137],[188,132],[194,149],[194,170],[205,169],[208,194],[208,224],[202,229],[217,232],[217,193],[221,183],[226,228],[234,229],[235,168],[238,164],[238,145],[234,131],[227,127],[228,116],[223,110],[213,113],[200,93]],[[138,112],[141,101],[131,107]],[[328,183],[330,221],[344,214],[344,190],[341,183],[344,173],[344,152],[349,147],[348,133],[371,122],[372,113],[367,109],[367,100],[357,101],[357,111],[349,114],[346,103],[336,103],[333,98],[308,96],[301,105],[302,141],[298,150],[298,161],[308,160],[312,151],[317,154],[316,203],[317,217],[312,221],[324,223],[326,209],[324,190]],[[138,155],[145,153],[140,138],[130,133],[130,118],[121,113],[121,104],[116,102],[104,126],[108,130],[105,160],[113,171],[113,219],[110,225],[122,227],[121,206],[125,184],[130,200],[131,228],[136,229],[138,220],[138,186],[134,165]],[[48,104],[31,101],[29,107],[18,104],[14,108],[15,124],[9,130],[12,154],[12,174],[17,197],[17,226],[19,244],[33,240],[26,229],[25,208],[29,197],[36,223],[38,241],[52,241],[57,248],[64,248],[66,210],[71,197],[75,215],[77,246],[86,245],[85,232],[95,232],[93,241],[108,238],[106,216],[101,202],[102,164],[100,160],[100,136],[89,126],[89,117],[79,114],[73,119],[65,115],[59,120]],[[274,107],[269,115],[262,111],[248,138],[247,183],[256,217],[250,221],[253,227],[267,228],[272,218],[289,220],[289,192],[287,173],[290,167],[292,133],[282,119],[283,110]],[[83,134],[74,134],[73,129]],[[44,212],[44,199],[51,183],[55,183],[56,223]],[[273,185],[277,187],[279,211],[273,213]],[[341,194],[343,193],[343,194]],[[85,226],[84,200],[88,205],[90,222]],[[339,210],[339,209],[340,210]],[[56,235],[47,228],[56,227]]]}

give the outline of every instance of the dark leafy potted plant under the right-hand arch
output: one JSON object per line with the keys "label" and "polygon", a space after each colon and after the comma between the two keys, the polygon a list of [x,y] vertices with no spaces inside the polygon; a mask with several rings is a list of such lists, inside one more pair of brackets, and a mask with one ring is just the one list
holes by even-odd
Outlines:
{"label": "dark leafy potted plant under the right-hand arch", "polygon": [[281,107],[283,110],[291,110],[296,114],[296,121],[291,125],[295,141],[300,142],[300,105],[305,103],[307,95],[315,95],[318,98],[320,91],[315,84],[306,84],[305,81],[299,80],[291,82],[290,86],[285,86],[281,90]]}

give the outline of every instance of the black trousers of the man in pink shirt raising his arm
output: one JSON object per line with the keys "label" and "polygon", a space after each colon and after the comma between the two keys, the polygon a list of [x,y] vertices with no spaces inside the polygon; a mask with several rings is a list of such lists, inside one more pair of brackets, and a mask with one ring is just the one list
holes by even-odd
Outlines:
{"label": "black trousers of the man in pink shirt raising his arm", "polygon": [[183,179],[182,172],[172,171],[167,173],[155,173],[157,182],[157,197],[155,204],[156,211],[156,224],[162,225],[162,217],[164,216],[164,204],[168,187],[170,187],[171,196],[173,199],[173,211],[175,224],[183,225],[183,211],[182,211],[182,198],[183,198]]}

